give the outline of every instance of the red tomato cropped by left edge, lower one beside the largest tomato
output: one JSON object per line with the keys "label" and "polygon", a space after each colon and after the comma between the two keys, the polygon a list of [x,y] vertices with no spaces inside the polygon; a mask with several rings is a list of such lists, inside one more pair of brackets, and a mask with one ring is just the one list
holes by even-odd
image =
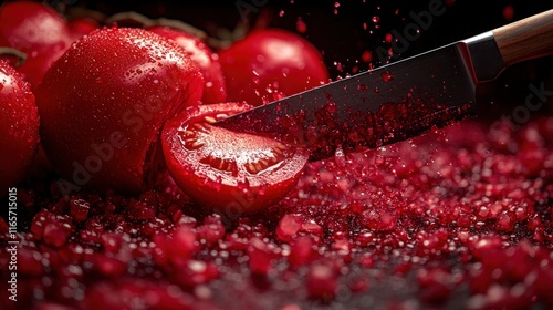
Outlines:
{"label": "red tomato cropped by left edge, lower one beside the largest tomato", "polygon": [[39,112],[29,83],[0,61],[0,196],[17,185],[31,164],[39,144]]}

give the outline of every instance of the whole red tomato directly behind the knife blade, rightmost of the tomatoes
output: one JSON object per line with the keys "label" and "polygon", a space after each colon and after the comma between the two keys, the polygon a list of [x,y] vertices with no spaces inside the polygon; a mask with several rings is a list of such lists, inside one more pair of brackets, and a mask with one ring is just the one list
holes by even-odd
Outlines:
{"label": "whole red tomato directly behind the knife blade, rightmost of the tomatoes", "polygon": [[328,82],[321,53],[285,30],[255,30],[219,52],[227,100],[261,105]]}

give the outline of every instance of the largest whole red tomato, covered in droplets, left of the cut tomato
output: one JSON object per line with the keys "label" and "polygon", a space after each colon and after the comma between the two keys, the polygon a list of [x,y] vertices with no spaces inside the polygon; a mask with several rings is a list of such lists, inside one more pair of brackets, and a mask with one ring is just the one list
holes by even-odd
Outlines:
{"label": "largest whole red tomato, covered in droplets, left of the cut tomato", "polygon": [[146,30],[102,29],[76,41],[36,92],[44,151],[65,178],[62,190],[139,193],[157,173],[161,125],[198,104],[202,89],[185,51]]}

